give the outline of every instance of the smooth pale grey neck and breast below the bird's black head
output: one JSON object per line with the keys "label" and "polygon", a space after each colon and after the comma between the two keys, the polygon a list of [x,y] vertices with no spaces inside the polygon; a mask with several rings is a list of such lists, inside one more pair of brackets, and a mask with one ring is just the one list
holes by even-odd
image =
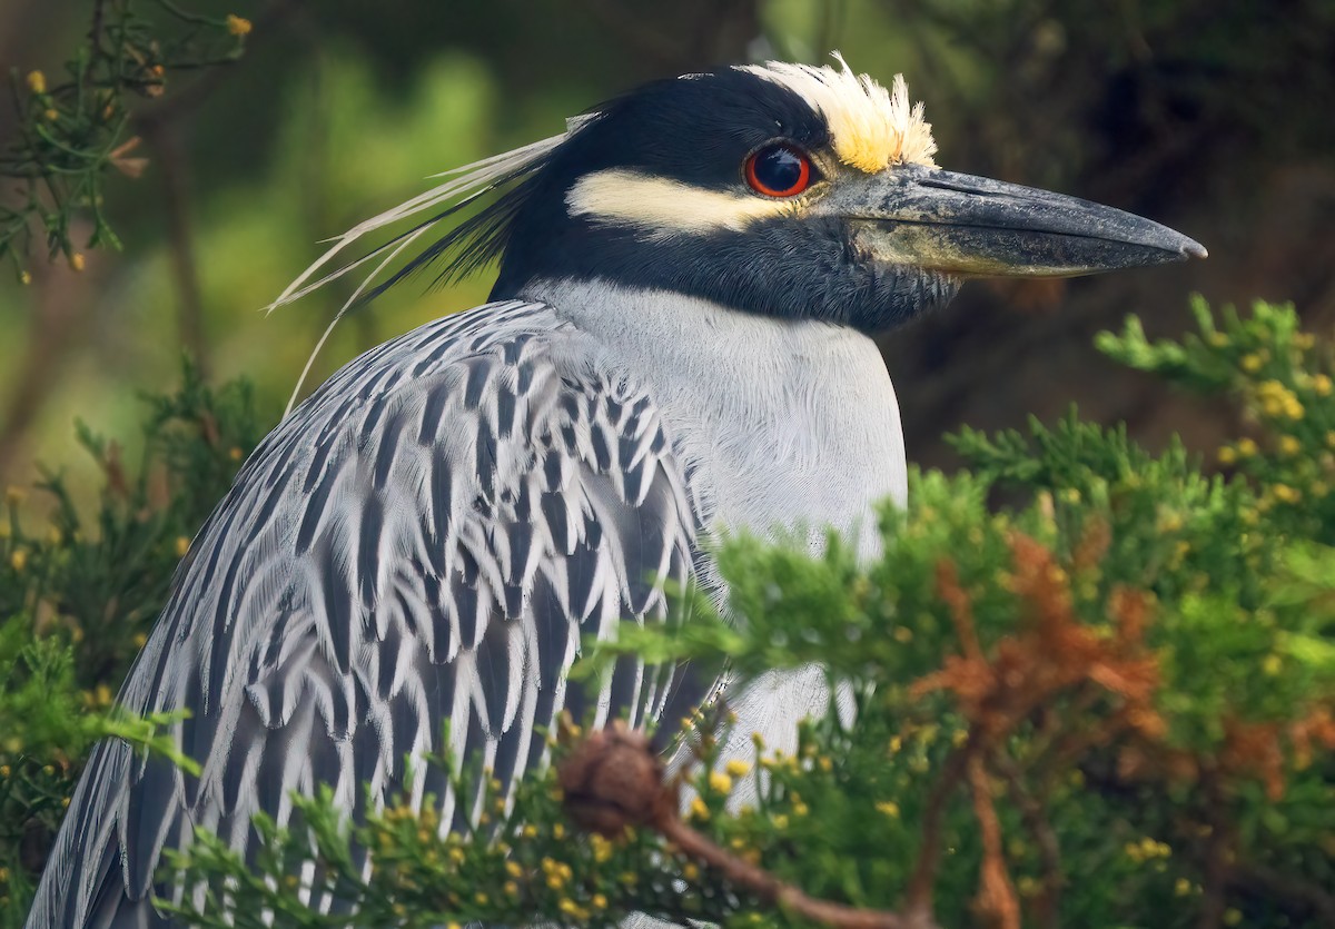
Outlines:
{"label": "smooth pale grey neck and breast below the bird's black head", "polygon": [[872,505],[904,501],[894,388],[861,332],[597,280],[537,282],[523,296],[645,390],[700,475],[706,523],[770,538],[833,525],[873,545]]}

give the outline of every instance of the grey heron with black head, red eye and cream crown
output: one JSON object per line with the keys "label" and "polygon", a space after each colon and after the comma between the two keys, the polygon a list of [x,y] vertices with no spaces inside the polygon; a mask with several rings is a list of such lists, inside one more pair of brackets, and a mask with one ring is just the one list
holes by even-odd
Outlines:
{"label": "grey heron with black head, red eye and cream crown", "polygon": [[[728,533],[818,549],[833,529],[874,557],[873,507],[908,493],[876,336],[969,278],[1206,255],[934,155],[901,76],[728,65],[645,84],[338,238],[278,303],[372,264],[359,302],[431,267],[499,270],[489,303],[347,363],[246,460],[117,698],[188,711],[168,734],[199,774],[99,743],[29,929],[172,925],[152,904],[183,893],[158,882],[164,853],[202,829],[254,854],[252,816],[291,824],[294,792],[327,785],[354,818],[430,796],[463,829],[481,796],[410,778],[413,759],[481,758],[510,797],[562,711],[643,726],[717,698],[726,679],[689,667],[567,671],[583,641],[680,622],[668,587],[726,603],[709,553]],[[828,705],[820,669],[726,698],[746,745],[725,755],[752,731],[793,745]]]}

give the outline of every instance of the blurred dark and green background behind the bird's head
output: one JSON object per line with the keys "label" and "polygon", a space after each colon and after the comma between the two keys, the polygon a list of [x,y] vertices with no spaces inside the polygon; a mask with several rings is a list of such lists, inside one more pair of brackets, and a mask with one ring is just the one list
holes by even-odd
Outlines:
{"label": "blurred dark and green background behind the bird's head", "polygon": [[[156,0],[138,0],[154,16]],[[73,419],[132,436],[138,395],[252,379],[275,418],[351,284],[258,310],[316,240],[425,190],[426,175],[559,132],[653,77],[841,49],[926,103],[937,162],[1103,200],[1204,243],[1208,262],[1103,279],[973,283],[885,339],[910,459],[948,463],[960,423],[1015,426],[1079,402],[1159,444],[1210,451],[1236,423],[1101,360],[1092,335],[1140,312],[1188,327],[1187,294],[1294,300],[1335,322],[1335,0],[183,0],[254,23],[246,55],[170,73],[144,99],[148,159],[112,178],[120,252],[81,272],[36,255],[0,274],[0,482],[85,467]],[[0,0],[0,64],[57,73],[91,0]],[[166,21],[166,17],[164,17]],[[15,128],[0,107],[0,140]],[[0,187],[0,196],[12,191]],[[307,388],[356,352],[482,302],[485,276],[419,279],[350,318]],[[80,474],[77,470],[75,474]]]}

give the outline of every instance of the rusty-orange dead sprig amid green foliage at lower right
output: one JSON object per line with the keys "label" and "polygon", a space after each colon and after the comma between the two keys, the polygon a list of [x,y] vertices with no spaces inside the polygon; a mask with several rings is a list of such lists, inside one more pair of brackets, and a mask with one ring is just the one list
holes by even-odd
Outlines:
{"label": "rusty-orange dead sprig amid green foliage at lower right", "polygon": [[[1097,527],[1087,533],[1088,558],[1107,546],[1103,535]],[[1063,719],[1053,722],[1053,729],[1071,734],[1053,737],[1056,743],[1052,749],[1072,761],[1072,747],[1083,754],[1088,747],[1107,743],[1121,733],[1131,731],[1143,741],[1151,741],[1160,738],[1164,730],[1152,702],[1159,687],[1159,666],[1144,643],[1149,621],[1144,595],[1131,590],[1115,591],[1109,618],[1116,634],[1111,638],[1100,635],[1076,615],[1069,577],[1048,549],[1021,534],[1012,535],[1011,549],[1013,574],[1009,583],[1027,607],[1027,621],[1019,633],[1001,638],[991,653],[979,639],[972,603],[953,563],[943,561],[937,565],[937,594],[949,609],[960,639],[960,654],[948,655],[940,670],[913,682],[909,693],[916,697],[949,693],[969,722],[969,735],[965,745],[948,757],[928,798],[922,846],[906,896],[908,913],[929,912],[941,841],[940,820],[947,800],[967,774],[984,840],[977,909],[991,924],[1007,929],[1019,926],[1020,905],[1005,869],[1000,824],[987,790],[988,766],[1004,761],[992,757],[996,754],[993,746],[1041,707],[1061,714]],[[1109,698],[1117,702],[1111,715],[1092,726],[1080,722],[1084,710]],[[1083,707],[1081,711],[1072,715],[1060,709],[1065,706],[1069,710],[1072,705]],[[1013,765],[1008,780],[1012,793],[1019,792],[1023,800]],[[1060,882],[1056,837],[1036,804],[1031,801],[1027,806],[1028,828],[1043,849],[1044,922],[1051,925]]]}

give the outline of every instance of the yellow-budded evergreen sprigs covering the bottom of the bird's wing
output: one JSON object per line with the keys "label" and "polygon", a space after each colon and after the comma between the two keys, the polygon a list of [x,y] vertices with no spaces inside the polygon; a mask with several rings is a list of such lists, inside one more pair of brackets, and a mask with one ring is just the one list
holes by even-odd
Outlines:
{"label": "yellow-budded evergreen sprigs covering the bottom of the bird's wing", "polygon": [[[450,758],[429,763],[455,771],[450,784],[457,796],[478,798],[483,813],[473,834],[442,836],[430,797],[421,809],[402,798],[364,824],[350,825],[324,789],[315,798],[294,801],[294,818],[302,824],[295,829],[258,820],[264,846],[255,869],[212,836],[202,836],[188,856],[172,856],[187,900],[167,906],[190,924],[219,929],[271,925],[270,909],[280,914],[282,925],[332,929],[347,925],[348,917],[338,914],[344,906],[355,906],[358,925],[368,926],[459,926],[474,920],[583,926],[615,925],[615,914],[637,908],[698,918],[717,912],[714,901],[728,890],[717,877],[700,876],[650,832],[627,832],[617,841],[574,834],[550,769],[523,782],[507,806],[497,794],[501,785],[475,766],[459,771]],[[314,877],[304,882],[287,877],[311,860],[312,846],[319,862]],[[362,868],[366,850],[376,862],[370,878]],[[682,869],[696,869],[698,878],[686,893],[673,886],[673,874]],[[275,882],[275,874],[283,877]],[[307,905],[298,893],[303,885],[312,900],[338,901],[335,913]],[[246,905],[234,909],[236,901]]]}

